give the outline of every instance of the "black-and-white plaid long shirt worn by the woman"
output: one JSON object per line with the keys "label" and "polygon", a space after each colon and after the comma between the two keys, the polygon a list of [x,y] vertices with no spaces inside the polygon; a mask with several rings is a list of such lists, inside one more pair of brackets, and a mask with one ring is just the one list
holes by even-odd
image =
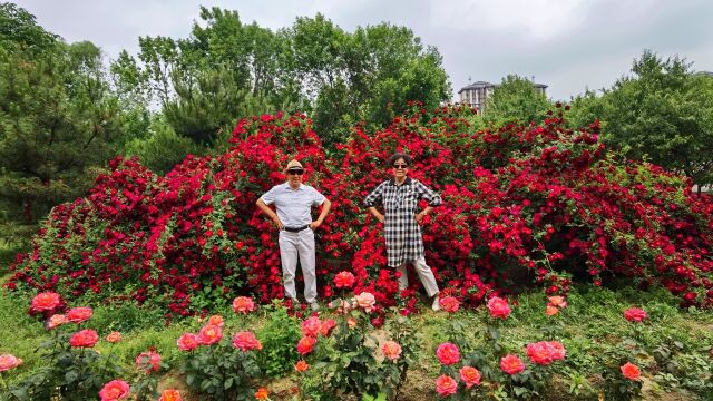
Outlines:
{"label": "black-and-white plaid long shirt worn by the woman", "polygon": [[364,198],[364,206],[384,208],[384,237],[389,266],[397,267],[423,256],[421,226],[416,222],[419,199],[439,206],[441,197],[418,179],[406,178],[397,185],[392,179],[381,183]]}

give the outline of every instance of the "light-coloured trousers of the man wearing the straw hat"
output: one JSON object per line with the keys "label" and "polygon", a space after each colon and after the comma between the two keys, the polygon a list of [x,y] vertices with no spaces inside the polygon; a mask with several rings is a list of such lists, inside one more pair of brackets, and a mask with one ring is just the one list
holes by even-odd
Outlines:
{"label": "light-coloured trousers of the man wearing the straw hat", "polygon": [[316,275],[314,273],[314,232],[311,228],[299,233],[280,232],[280,260],[282,262],[282,281],[285,295],[297,297],[294,287],[294,274],[297,270],[297,257],[304,277],[304,299],[307,303],[316,301]]}

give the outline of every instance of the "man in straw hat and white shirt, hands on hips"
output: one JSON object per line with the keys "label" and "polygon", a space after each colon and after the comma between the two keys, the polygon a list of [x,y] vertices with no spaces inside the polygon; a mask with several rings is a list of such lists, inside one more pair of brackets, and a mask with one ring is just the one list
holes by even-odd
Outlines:
{"label": "man in straw hat and white shirt, hands on hips", "polygon": [[[302,184],[304,168],[297,160],[290,160],[285,168],[287,182],[276,185],[257,199],[257,207],[280,229],[280,260],[285,295],[295,303],[297,294],[294,274],[297,257],[304,277],[304,299],[313,311],[316,304],[316,274],[314,257],[314,231],[324,222],[332,203],[309,185]],[[268,205],[275,205],[277,213]],[[312,206],[324,205],[316,221],[312,221]]]}

